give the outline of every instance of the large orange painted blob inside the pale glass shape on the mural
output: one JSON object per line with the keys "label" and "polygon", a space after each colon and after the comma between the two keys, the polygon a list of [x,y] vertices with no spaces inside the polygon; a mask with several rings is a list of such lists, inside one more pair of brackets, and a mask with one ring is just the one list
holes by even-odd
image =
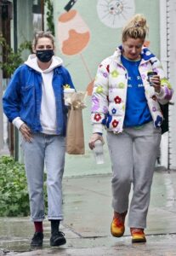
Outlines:
{"label": "large orange painted blob inside the pale glass shape on the mural", "polygon": [[86,47],[90,38],[90,33],[78,33],[71,29],[69,38],[63,41],[62,52],[65,55],[77,55]]}

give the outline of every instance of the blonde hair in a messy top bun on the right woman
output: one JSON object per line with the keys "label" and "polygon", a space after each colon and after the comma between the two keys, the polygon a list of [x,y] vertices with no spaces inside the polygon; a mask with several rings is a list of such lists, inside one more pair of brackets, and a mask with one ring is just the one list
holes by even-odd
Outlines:
{"label": "blonde hair in a messy top bun on the right woman", "polygon": [[140,38],[145,41],[148,31],[149,27],[146,23],[145,16],[140,14],[134,15],[122,29],[122,42],[127,41],[128,38]]}

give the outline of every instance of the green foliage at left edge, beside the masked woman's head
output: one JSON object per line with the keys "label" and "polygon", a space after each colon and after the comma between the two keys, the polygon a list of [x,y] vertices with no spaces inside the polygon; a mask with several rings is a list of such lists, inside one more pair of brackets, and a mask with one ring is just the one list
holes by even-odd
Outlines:
{"label": "green foliage at left edge, beside the masked woman's head", "polygon": [[0,55],[3,56],[3,61],[0,61],[0,67],[3,69],[3,72],[6,73],[6,77],[10,78],[10,76],[14,73],[14,70],[23,63],[23,59],[21,57],[22,52],[25,49],[31,50],[31,42],[25,41],[20,44],[20,47],[16,52],[7,44],[6,39],[3,38],[3,35],[0,34],[0,45],[3,48],[2,53]]}

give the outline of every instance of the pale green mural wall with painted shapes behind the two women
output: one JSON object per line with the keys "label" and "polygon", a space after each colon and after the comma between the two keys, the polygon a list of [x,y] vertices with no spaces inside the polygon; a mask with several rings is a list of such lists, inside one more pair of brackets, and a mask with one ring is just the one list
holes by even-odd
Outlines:
{"label": "pale green mural wall with painted shapes behind the two women", "polygon": [[64,60],[77,90],[88,91],[87,108],[83,110],[86,154],[66,155],[65,176],[111,172],[106,143],[104,165],[95,164],[88,148],[92,133],[90,96],[99,62],[121,44],[122,26],[136,13],[147,18],[147,43],[160,57],[159,0],[54,0],[56,54]]}

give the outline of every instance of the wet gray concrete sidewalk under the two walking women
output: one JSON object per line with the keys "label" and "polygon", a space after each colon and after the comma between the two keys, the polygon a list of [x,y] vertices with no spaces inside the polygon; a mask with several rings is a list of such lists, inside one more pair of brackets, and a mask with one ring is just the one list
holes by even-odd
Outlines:
{"label": "wet gray concrete sidewalk under the two walking women", "polygon": [[0,256],[176,255],[176,172],[155,172],[146,244],[132,244],[128,227],[122,238],[111,236],[111,175],[65,177],[63,196],[64,246],[49,247],[46,220],[43,250],[30,251],[33,225],[29,218],[0,218]]}

